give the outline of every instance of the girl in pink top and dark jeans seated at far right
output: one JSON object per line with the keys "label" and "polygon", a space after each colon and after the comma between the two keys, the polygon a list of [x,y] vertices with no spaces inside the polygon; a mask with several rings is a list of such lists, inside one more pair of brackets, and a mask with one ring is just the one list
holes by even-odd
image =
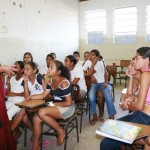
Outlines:
{"label": "girl in pink top and dark jeans seated at far right", "polygon": [[[134,67],[142,72],[139,94],[137,97],[129,96],[121,99],[120,103],[123,110],[134,112],[119,120],[150,125],[150,47],[141,47],[137,50]],[[125,143],[105,138],[100,143],[100,150],[116,150],[122,144]]]}

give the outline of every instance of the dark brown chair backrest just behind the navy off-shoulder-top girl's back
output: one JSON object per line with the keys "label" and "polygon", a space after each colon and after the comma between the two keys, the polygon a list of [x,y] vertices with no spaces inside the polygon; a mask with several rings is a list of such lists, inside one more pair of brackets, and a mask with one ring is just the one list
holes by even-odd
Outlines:
{"label": "dark brown chair backrest just behind the navy off-shoulder-top girl's back", "polygon": [[72,99],[76,101],[79,99],[80,87],[77,84],[72,84],[71,87],[72,87],[71,91]]}

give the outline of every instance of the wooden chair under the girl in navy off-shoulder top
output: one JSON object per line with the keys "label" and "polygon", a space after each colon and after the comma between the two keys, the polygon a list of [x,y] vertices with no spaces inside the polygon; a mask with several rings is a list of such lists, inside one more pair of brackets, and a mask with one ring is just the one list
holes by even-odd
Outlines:
{"label": "wooden chair under the girl in navy off-shoulder top", "polygon": [[[76,112],[71,117],[69,117],[65,120],[57,119],[57,123],[65,130],[64,150],[67,149],[68,135],[74,128],[76,128],[77,142],[79,143],[78,121],[77,121],[77,113]],[[49,128],[47,131],[42,132],[41,141],[43,139],[43,135],[57,137],[57,132],[53,128]],[[41,142],[41,148],[42,148],[42,142]]]}

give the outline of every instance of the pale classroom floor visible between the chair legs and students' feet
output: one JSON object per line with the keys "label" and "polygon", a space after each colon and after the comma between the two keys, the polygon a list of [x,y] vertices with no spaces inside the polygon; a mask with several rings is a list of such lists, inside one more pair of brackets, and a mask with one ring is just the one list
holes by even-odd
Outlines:
{"label": "pale classroom floor visible between the chair legs and students' feet", "polygon": [[[115,116],[116,119],[128,113],[127,111],[122,111],[119,107],[121,91],[123,88],[124,88],[123,84],[122,85],[118,84],[117,87],[115,88],[116,99],[115,99],[114,104],[117,110],[117,115]],[[104,112],[104,118],[105,119],[108,118],[106,108]],[[83,129],[82,129],[82,133],[79,135],[80,142],[77,143],[76,132],[75,130],[72,131],[69,134],[67,150],[99,150],[100,149],[99,144],[100,144],[102,137],[97,136],[95,134],[95,131],[101,124],[102,124],[101,122],[97,122],[95,126],[89,126],[88,115],[84,114]],[[18,141],[18,145],[17,145],[18,150],[30,150],[31,149],[30,137],[31,137],[31,132],[28,130],[27,146],[24,147],[23,145],[24,138],[22,134],[21,138]],[[44,137],[44,139],[56,140],[55,137],[46,137],[46,136]],[[53,144],[49,144],[47,147],[44,147],[43,150],[63,150],[63,145],[56,146],[56,142],[54,142]]]}

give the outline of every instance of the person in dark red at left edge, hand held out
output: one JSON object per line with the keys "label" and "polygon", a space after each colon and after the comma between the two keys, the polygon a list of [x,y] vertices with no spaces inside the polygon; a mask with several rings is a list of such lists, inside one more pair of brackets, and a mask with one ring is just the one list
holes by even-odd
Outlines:
{"label": "person in dark red at left edge, hand held out", "polygon": [[[14,74],[15,66],[0,66],[0,73],[6,73],[8,76]],[[3,83],[0,80],[0,149],[1,150],[16,150],[15,140],[10,128],[7,111],[4,100]]]}

